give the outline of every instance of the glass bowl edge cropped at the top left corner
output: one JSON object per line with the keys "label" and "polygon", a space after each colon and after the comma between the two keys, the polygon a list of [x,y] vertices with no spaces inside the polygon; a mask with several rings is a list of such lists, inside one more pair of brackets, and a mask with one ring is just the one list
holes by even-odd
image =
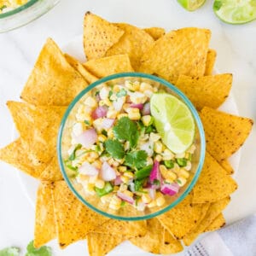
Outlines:
{"label": "glass bowl edge cropped at the top left corner", "polygon": [[0,32],[24,26],[47,13],[60,0],[29,0],[20,7],[0,14]]}

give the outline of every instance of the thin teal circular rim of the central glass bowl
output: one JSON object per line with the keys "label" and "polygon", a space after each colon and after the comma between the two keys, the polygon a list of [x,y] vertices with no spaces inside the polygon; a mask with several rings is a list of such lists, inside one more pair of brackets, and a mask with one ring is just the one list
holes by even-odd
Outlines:
{"label": "thin teal circular rim of the central glass bowl", "polygon": [[[189,183],[188,188],[186,188],[183,192],[183,195],[181,195],[180,197],[177,198],[177,200],[173,201],[170,205],[168,205],[167,207],[157,211],[157,212],[153,212],[150,213],[148,215],[144,215],[144,216],[137,216],[137,217],[124,217],[124,216],[118,216],[118,215],[113,215],[111,213],[108,212],[104,212],[96,207],[94,207],[93,205],[91,205],[88,201],[84,200],[84,198],[79,194],[79,192],[74,189],[73,184],[71,183],[71,181],[69,180],[69,178],[67,177],[67,173],[65,171],[65,167],[63,164],[63,160],[61,157],[61,141],[62,141],[62,135],[63,135],[63,130],[67,121],[67,118],[69,116],[69,113],[72,111],[72,109],[74,108],[74,106],[77,104],[77,102],[79,102],[79,100],[90,90],[92,90],[93,88],[95,88],[97,85],[100,85],[102,83],[106,83],[109,82],[113,79],[120,79],[120,78],[125,78],[125,77],[130,77],[130,78],[143,78],[143,79],[151,79],[154,80],[155,82],[158,82],[160,84],[164,84],[166,87],[168,87],[169,89],[171,89],[172,91],[174,91],[178,96],[180,96],[183,100],[183,102],[185,102],[185,104],[189,107],[189,110],[191,111],[194,119],[195,119],[195,123],[198,127],[199,130],[199,134],[201,137],[201,152],[200,152],[200,159],[199,159],[199,163],[198,163],[198,167],[197,170],[195,172],[195,176],[193,177],[193,179],[191,180],[191,182]],[[197,113],[194,105],[192,104],[192,102],[189,101],[189,98],[187,96],[185,96],[183,94],[183,92],[181,90],[178,90],[176,86],[174,86],[173,84],[167,82],[165,79],[161,79],[159,77],[156,77],[154,75],[151,74],[146,74],[146,73],[137,73],[137,72],[132,72],[132,73],[116,73],[107,77],[104,77],[102,79],[96,80],[96,82],[90,84],[89,86],[87,86],[84,90],[82,90],[78,96],[76,96],[73,99],[73,102],[71,102],[66,110],[66,113],[64,114],[63,118],[61,119],[61,125],[60,125],[60,130],[58,133],[58,137],[57,137],[57,156],[58,156],[58,162],[59,162],[59,166],[61,167],[61,173],[62,176],[64,177],[65,182],[67,183],[69,189],[71,189],[71,191],[73,192],[73,194],[79,199],[79,201],[81,201],[85,206],[89,207],[91,210],[102,214],[105,217],[108,218],[114,218],[114,219],[118,219],[118,220],[126,220],[126,221],[137,221],[137,220],[144,220],[144,219],[148,219],[148,218],[154,218],[162,213],[165,213],[169,210],[171,210],[173,207],[177,206],[178,203],[180,203],[181,201],[183,201],[183,199],[189,194],[189,192],[191,191],[191,189],[193,189],[193,187],[195,186],[196,181],[198,180],[200,174],[201,174],[201,169],[205,160],[205,154],[206,154],[206,140],[205,140],[205,133],[204,133],[204,129],[203,129],[203,125],[201,123],[201,119],[199,114]]]}

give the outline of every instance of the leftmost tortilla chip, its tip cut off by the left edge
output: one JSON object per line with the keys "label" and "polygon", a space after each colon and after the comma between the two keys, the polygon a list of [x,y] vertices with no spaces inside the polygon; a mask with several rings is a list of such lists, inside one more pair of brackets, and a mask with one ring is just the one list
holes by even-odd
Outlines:
{"label": "leftmost tortilla chip, its tip cut off by the left edge", "polygon": [[20,138],[7,145],[5,148],[0,149],[0,160],[36,178],[40,177],[45,168],[45,164],[32,158],[32,155]]}

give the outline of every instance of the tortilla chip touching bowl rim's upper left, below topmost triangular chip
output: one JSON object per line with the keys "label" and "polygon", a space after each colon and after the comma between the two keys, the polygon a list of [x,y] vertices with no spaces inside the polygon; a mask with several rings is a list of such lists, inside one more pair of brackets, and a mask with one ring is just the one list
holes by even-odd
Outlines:
{"label": "tortilla chip touching bowl rim's upper left, below topmost triangular chip", "polygon": [[133,72],[128,55],[113,55],[102,59],[87,61],[84,67],[98,78],[114,73]]}

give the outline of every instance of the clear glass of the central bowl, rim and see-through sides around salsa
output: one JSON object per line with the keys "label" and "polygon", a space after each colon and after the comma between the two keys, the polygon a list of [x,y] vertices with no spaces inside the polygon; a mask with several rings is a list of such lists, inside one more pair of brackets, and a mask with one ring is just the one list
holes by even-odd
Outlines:
{"label": "clear glass of the central bowl, rim and see-through sides around salsa", "polygon": [[[70,172],[68,172],[68,169],[64,164],[64,159],[67,157],[67,150],[68,148],[70,148],[71,145],[71,129],[75,122],[74,115],[79,108],[78,103],[83,101],[84,96],[86,96],[90,92],[90,90],[93,90],[96,87],[99,88],[102,84],[123,84],[125,80],[147,82],[153,86],[157,86],[158,88],[165,88],[168,93],[172,94],[173,96],[177,96],[177,98],[179,98],[188,106],[190,112],[195,119],[196,149],[195,154],[193,154],[192,158],[192,169],[190,171],[188,182],[179,190],[177,195],[165,195],[165,205],[163,205],[162,207],[146,207],[143,212],[137,211],[136,208],[130,206],[129,204],[125,204],[125,207],[121,207],[118,211],[111,210],[108,207],[108,204],[102,204],[100,198],[97,195],[85,194],[84,189],[82,189],[79,183],[75,180],[75,178],[70,175]],[[201,124],[201,119],[193,104],[174,85],[166,82],[166,80],[164,79],[160,79],[158,77],[145,73],[117,73],[106,78],[99,79],[95,83],[90,84],[87,88],[81,91],[67,108],[67,112],[65,113],[61,121],[61,127],[57,142],[58,160],[61,167],[62,175],[65,178],[68,187],[73,191],[73,194],[77,196],[79,201],[82,201],[84,205],[90,207],[92,210],[101,213],[106,217],[128,221],[154,218],[155,216],[158,216],[172,209],[172,207],[175,207],[179,202],[183,201],[186,195],[189,194],[190,190],[193,189],[198,177],[200,176],[201,168],[204,163],[205,151],[206,143],[203,126]]]}

